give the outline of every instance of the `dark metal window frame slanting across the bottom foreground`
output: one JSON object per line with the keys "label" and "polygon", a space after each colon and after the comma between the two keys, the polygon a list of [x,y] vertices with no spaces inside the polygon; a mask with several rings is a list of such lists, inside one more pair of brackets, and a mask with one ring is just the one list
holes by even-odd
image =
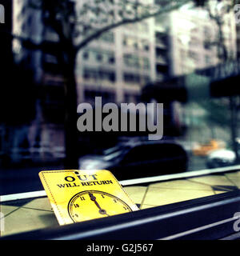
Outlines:
{"label": "dark metal window frame slanting across the bottom foreground", "polygon": [[209,240],[239,238],[234,214],[240,190],[66,226],[33,230],[0,240]]}

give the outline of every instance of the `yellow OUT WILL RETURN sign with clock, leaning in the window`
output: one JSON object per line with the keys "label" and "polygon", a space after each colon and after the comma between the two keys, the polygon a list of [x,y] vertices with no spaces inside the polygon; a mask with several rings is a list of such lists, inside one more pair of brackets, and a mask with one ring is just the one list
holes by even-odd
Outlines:
{"label": "yellow OUT WILL RETURN sign with clock, leaning in the window", "polygon": [[60,225],[138,210],[109,170],[46,170],[39,177]]}

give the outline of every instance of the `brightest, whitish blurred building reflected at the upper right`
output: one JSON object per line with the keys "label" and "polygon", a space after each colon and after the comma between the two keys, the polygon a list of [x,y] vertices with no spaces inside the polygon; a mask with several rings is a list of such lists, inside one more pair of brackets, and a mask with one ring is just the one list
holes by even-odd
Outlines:
{"label": "brightest, whitish blurred building reflected at the upper right", "polygon": [[[236,58],[234,13],[225,14],[222,34],[228,58]],[[195,69],[216,66],[219,58],[219,29],[206,10],[183,6],[155,19],[156,56],[164,66],[156,66],[159,80],[189,74]],[[167,49],[164,51],[164,49]],[[163,59],[165,60],[163,62]],[[158,63],[158,62],[157,62]]]}

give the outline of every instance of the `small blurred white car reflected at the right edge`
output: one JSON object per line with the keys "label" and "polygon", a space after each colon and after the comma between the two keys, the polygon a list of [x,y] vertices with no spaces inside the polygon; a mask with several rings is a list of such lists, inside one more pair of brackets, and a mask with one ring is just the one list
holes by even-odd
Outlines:
{"label": "small blurred white car reflected at the right edge", "polygon": [[233,150],[214,150],[207,155],[206,166],[208,168],[233,166],[236,164],[236,159],[236,154]]}

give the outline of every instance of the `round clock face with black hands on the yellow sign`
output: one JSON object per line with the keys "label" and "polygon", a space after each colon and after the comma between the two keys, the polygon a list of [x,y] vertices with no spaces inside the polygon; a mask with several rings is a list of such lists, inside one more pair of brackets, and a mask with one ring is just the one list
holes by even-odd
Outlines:
{"label": "round clock face with black hands on the yellow sign", "polygon": [[130,206],[113,194],[98,190],[86,190],[75,194],[68,205],[70,218],[74,222],[92,218],[108,217],[132,211]]}

